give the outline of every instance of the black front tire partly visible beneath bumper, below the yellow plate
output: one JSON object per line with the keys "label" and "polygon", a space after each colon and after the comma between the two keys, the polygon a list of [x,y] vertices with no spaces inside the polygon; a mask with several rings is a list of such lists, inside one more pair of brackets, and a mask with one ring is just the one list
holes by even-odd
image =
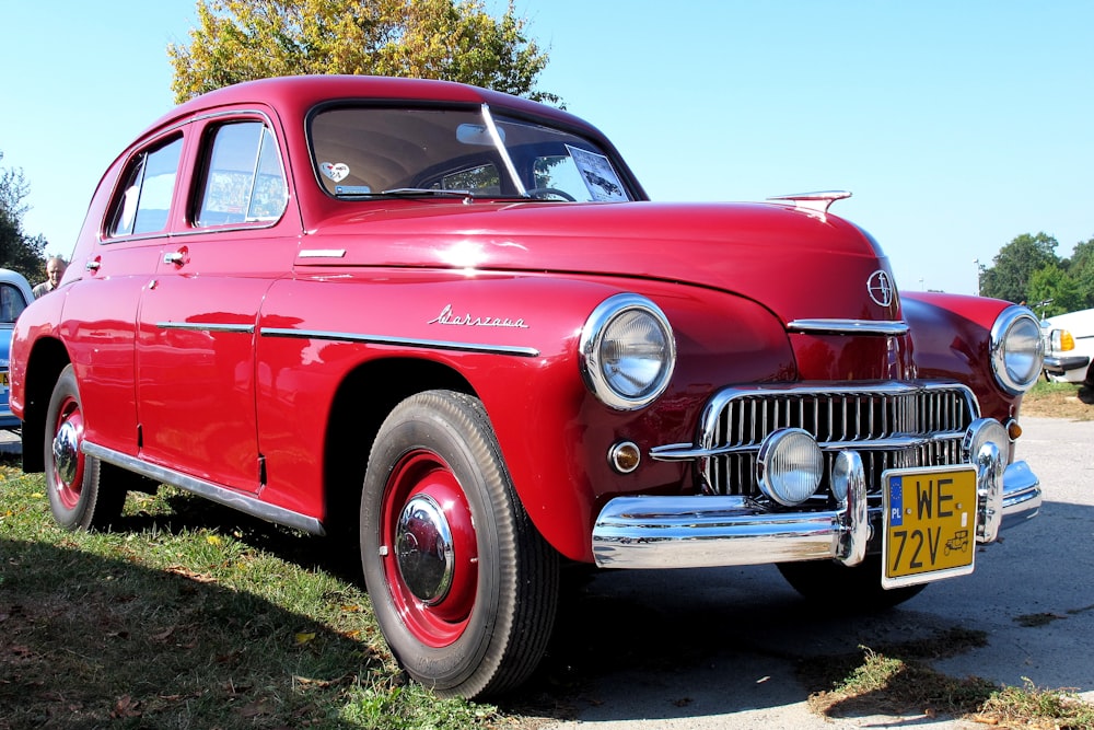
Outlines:
{"label": "black front tire partly visible beneath bumper, below the yellow plate", "polygon": [[868,555],[853,568],[836,560],[780,563],[779,572],[806,601],[831,613],[885,611],[927,588],[926,583],[882,588],[881,555]]}

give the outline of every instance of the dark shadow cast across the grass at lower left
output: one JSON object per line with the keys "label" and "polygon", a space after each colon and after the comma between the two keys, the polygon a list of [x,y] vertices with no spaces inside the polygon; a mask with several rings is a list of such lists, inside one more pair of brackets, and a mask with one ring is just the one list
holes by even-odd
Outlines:
{"label": "dark shadow cast across the grass at lower left", "polygon": [[2,728],[288,727],[383,667],[321,622],[184,571],[8,537],[0,556]]}

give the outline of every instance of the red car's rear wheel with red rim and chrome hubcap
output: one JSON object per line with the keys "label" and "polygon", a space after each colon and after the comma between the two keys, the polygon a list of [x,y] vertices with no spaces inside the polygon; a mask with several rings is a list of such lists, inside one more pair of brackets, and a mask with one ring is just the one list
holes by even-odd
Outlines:
{"label": "red car's rear wheel with red rim and chrome hubcap", "polygon": [[118,519],[126,493],[100,484],[100,463],[81,447],[83,407],[72,366],[54,385],[46,412],[46,488],[54,518],[66,530],[104,529]]}

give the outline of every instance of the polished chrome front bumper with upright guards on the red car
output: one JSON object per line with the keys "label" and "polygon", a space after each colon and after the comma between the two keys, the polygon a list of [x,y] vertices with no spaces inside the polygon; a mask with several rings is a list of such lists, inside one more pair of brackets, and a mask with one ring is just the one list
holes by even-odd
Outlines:
{"label": "polished chrome front bumper with upright guards on the red car", "polygon": [[[881,507],[866,507],[862,463],[839,454],[847,498],[835,510],[777,512],[738,496],[616,497],[593,528],[601,568],[708,568],[833,558],[857,565],[880,529]],[[977,464],[977,542],[1037,514],[1040,483],[1025,462],[1001,468],[998,452]]]}

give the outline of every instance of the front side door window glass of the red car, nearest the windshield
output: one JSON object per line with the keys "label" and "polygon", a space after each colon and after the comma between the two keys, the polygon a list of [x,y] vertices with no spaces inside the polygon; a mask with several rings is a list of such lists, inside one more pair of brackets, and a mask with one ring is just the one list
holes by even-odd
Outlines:
{"label": "front side door window glass of the red car, nearest the windshield", "polygon": [[194,224],[275,221],[288,196],[274,135],[261,121],[235,121],[211,135],[201,200]]}

